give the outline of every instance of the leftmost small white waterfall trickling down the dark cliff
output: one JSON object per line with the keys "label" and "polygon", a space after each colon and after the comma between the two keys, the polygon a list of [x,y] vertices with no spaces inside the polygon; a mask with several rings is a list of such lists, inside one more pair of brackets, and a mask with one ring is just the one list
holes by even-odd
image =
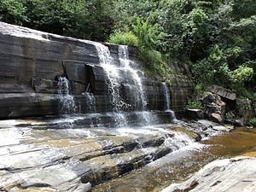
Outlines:
{"label": "leftmost small white waterfall trickling down the dark cliff", "polygon": [[60,113],[75,113],[76,105],[73,96],[70,94],[69,81],[66,77],[58,79],[58,104]]}

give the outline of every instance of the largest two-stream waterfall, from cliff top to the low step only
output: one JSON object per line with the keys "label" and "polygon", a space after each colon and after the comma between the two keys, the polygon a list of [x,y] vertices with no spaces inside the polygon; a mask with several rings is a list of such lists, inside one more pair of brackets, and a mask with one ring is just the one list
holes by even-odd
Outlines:
{"label": "largest two-stream waterfall, from cliff top to the low step only", "polygon": [[[143,91],[142,79],[139,77],[141,71],[130,66],[132,61],[129,60],[128,46],[119,45],[119,63],[120,66],[114,65],[113,57],[107,46],[95,44],[98,51],[100,64],[108,76],[108,90],[113,105],[113,112],[124,111],[133,108],[137,111],[143,111],[147,106],[147,98]],[[119,72],[125,72],[121,74]],[[125,102],[120,93],[122,80],[129,81],[131,84],[132,103]]]}

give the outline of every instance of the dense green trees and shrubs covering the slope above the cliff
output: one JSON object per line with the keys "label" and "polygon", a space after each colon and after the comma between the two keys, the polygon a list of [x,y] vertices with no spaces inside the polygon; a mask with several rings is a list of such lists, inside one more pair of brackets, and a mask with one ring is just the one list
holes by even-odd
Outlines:
{"label": "dense green trees and shrubs covering the slope above the cliff", "polygon": [[255,0],[2,0],[0,20],[138,46],[148,73],[170,80],[168,61],[183,61],[201,87],[255,98]]}

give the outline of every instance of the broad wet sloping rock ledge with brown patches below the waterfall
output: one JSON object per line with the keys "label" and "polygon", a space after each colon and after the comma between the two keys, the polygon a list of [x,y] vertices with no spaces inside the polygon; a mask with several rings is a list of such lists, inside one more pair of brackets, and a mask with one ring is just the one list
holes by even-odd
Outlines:
{"label": "broad wet sloping rock ledge with brown patches below the waterfall", "polygon": [[87,191],[201,140],[188,125],[107,129],[78,122],[0,121],[0,189]]}

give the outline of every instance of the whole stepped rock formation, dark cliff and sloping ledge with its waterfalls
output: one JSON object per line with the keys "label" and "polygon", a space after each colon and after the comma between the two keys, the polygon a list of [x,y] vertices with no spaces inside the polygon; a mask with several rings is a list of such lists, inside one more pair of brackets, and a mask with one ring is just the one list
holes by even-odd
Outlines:
{"label": "whole stepped rock formation, dark cliff and sloping ledge with its waterfalls", "polygon": [[187,66],[170,85],[138,55],[0,22],[0,191],[88,191],[199,141],[207,129],[170,124]]}

